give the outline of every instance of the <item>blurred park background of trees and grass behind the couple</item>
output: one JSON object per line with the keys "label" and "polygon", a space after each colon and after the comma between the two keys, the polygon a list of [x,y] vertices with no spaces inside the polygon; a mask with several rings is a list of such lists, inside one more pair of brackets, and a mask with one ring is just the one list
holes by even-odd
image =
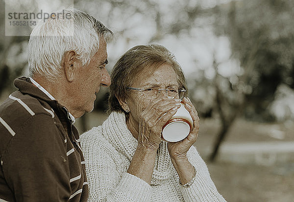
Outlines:
{"label": "blurred park background of trees and grass behind the couple", "polygon": [[[229,202],[293,202],[294,0],[0,0],[0,102],[28,72],[32,26],[5,34],[11,2],[96,17],[116,36],[109,72],[135,45],[166,46],[184,70],[200,116],[195,146],[219,192]],[[80,133],[106,119],[106,100],[103,88],[77,120]]]}

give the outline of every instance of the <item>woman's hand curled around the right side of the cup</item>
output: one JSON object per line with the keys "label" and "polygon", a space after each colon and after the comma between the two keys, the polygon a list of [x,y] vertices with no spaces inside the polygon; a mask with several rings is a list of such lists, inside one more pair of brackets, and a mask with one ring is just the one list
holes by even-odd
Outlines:
{"label": "woman's hand curled around the right side of the cup", "polygon": [[168,150],[173,161],[187,161],[187,152],[196,142],[199,131],[198,113],[189,98],[184,98],[185,108],[190,112],[193,119],[193,128],[190,134],[179,142],[168,142]]}

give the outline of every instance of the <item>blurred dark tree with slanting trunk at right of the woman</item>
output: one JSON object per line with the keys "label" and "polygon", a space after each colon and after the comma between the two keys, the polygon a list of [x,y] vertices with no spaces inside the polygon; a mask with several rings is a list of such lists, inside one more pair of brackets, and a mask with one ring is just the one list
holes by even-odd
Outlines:
{"label": "blurred dark tree with slanting trunk at right of the woman", "polygon": [[[267,109],[277,87],[282,83],[293,87],[293,79],[289,79],[294,58],[293,7],[291,0],[241,0],[231,1],[229,7],[216,7],[220,14],[216,34],[229,37],[231,57],[240,61],[243,73],[234,83],[230,78],[216,76],[216,104],[222,124],[211,160],[235,117],[244,112],[251,120],[272,121]],[[223,79],[231,88],[221,88]]]}

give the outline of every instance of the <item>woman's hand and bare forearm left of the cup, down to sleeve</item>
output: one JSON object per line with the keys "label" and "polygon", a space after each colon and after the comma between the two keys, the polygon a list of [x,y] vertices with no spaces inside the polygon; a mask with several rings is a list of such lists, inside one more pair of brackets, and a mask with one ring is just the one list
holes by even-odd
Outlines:
{"label": "woman's hand and bare forearm left of the cup, down to sleeve", "polygon": [[180,107],[180,100],[160,97],[151,101],[139,117],[138,146],[131,160],[128,173],[151,183],[156,151],[161,142],[163,125]]}

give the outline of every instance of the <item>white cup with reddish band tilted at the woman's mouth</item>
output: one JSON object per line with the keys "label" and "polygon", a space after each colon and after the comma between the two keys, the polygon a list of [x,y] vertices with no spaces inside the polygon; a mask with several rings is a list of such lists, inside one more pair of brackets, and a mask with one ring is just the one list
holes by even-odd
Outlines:
{"label": "white cup with reddish band tilted at the woman's mouth", "polygon": [[193,119],[181,102],[181,107],[163,126],[161,136],[168,142],[178,142],[185,139],[193,128]]}

